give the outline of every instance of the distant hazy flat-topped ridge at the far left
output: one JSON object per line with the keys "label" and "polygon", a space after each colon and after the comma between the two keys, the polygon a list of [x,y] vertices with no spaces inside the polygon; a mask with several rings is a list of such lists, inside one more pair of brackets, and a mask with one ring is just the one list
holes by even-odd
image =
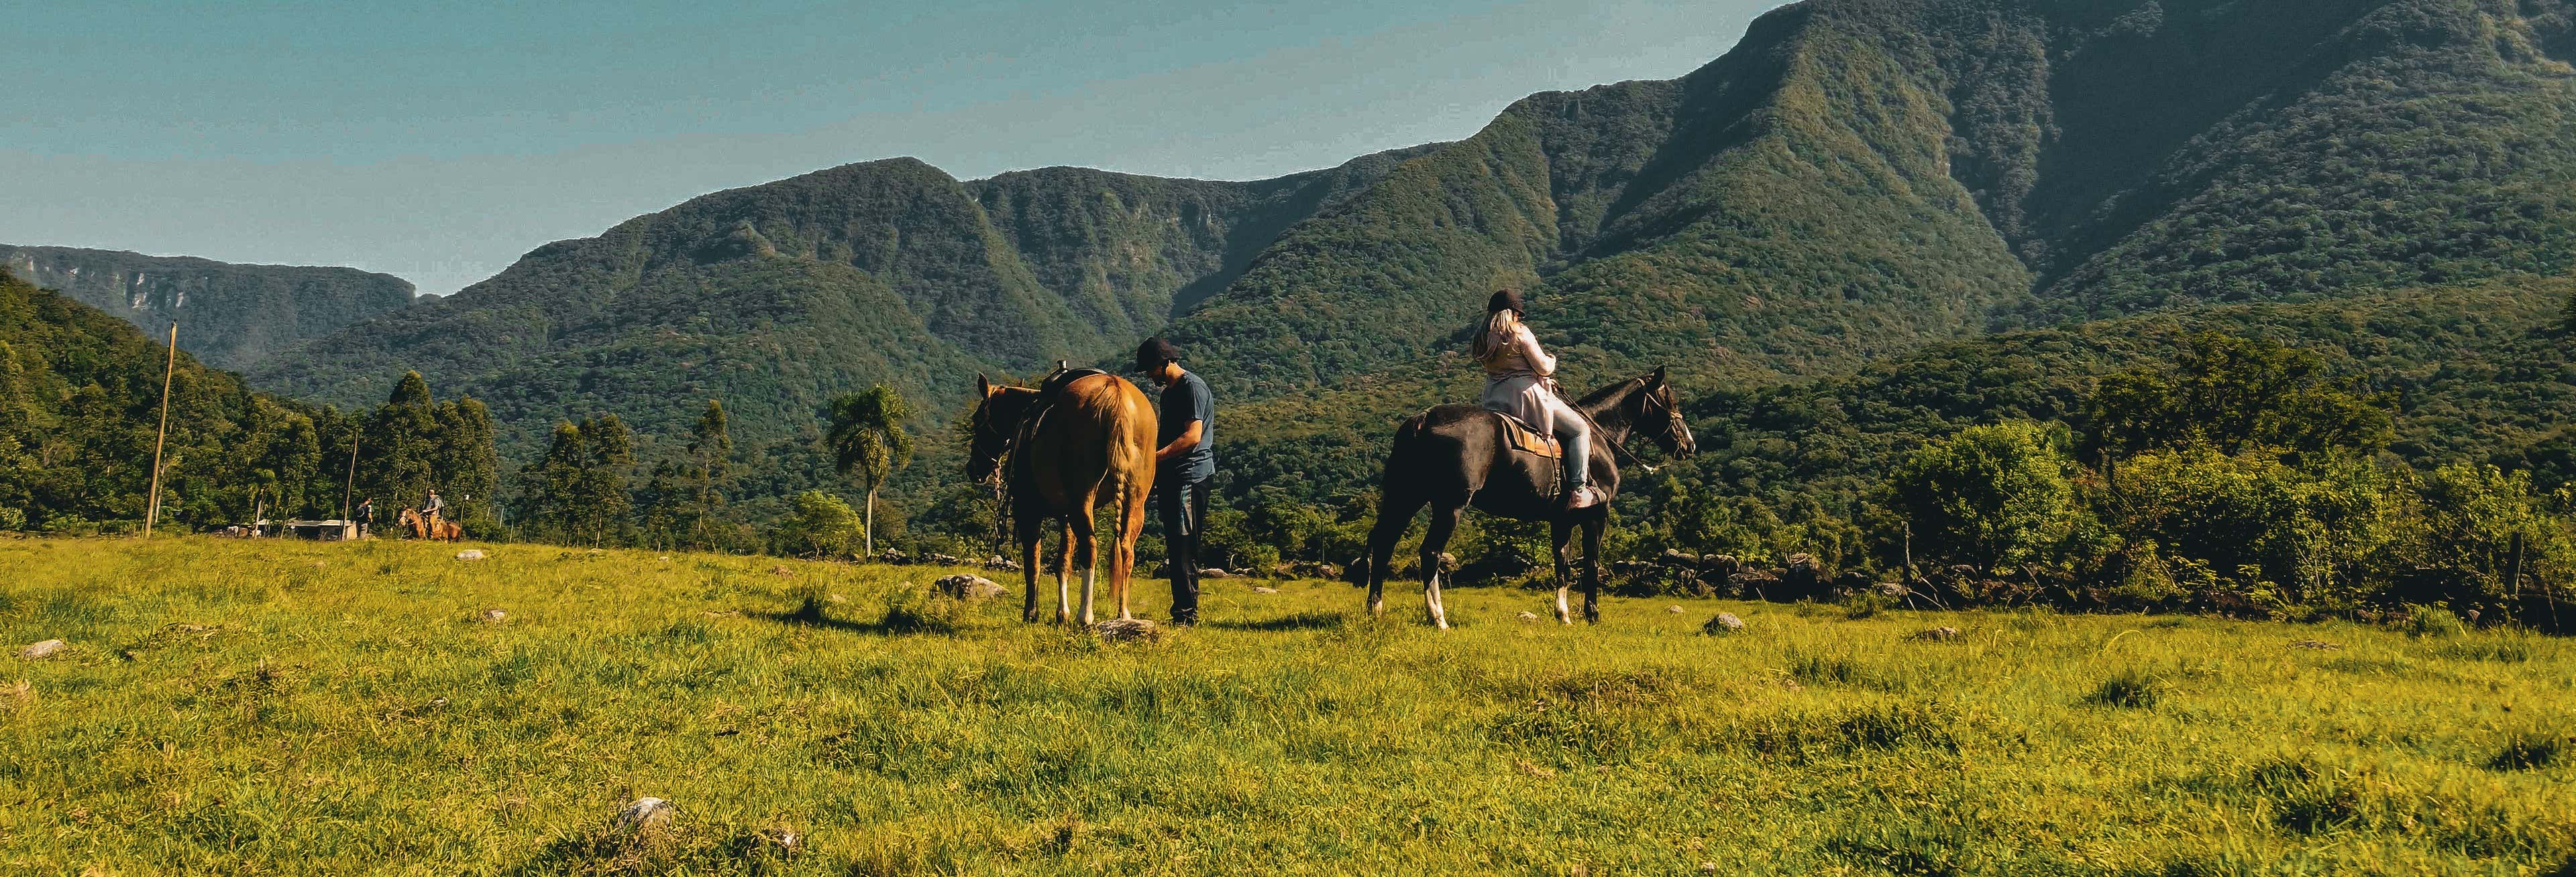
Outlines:
{"label": "distant hazy flat-topped ridge at the far left", "polygon": [[147,332],[180,321],[178,347],[242,370],[294,342],[412,303],[412,283],[355,267],[232,265],[77,247],[0,244],[21,280]]}

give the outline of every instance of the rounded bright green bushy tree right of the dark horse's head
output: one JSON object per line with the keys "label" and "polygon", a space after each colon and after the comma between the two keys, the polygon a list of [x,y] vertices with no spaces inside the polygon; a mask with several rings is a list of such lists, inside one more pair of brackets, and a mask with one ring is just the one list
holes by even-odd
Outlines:
{"label": "rounded bright green bushy tree right of the dark horse's head", "polygon": [[2030,422],[1968,427],[1888,478],[1919,556],[2012,568],[2050,561],[2079,525],[2074,468]]}

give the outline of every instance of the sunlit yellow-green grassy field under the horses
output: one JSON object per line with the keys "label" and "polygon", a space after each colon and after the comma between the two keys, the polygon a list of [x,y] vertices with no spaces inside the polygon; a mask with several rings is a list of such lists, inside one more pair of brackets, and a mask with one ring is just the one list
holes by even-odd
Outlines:
{"label": "sunlit yellow-green grassy field under the horses", "polygon": [[0,540],[0,869],[2576,874],[2548,638],[479,548]]}

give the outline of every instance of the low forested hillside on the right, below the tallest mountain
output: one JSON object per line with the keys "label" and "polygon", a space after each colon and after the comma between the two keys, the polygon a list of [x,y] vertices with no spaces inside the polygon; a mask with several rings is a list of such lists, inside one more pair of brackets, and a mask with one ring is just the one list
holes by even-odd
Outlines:
{"label": "low forested hillside on the right, below the tallest mountain", "polygon": [[[1685,471],[1754,496],[1862,494],[1924,440],[1971,424],[2087,424],[2099,375],[2169,360],[2197,332],[2321,355],[2396,414],[2388,453],[2439,463],[2522,463],[2576,422],[2561,309],[2571,278],[2499,278],[2308,303],[2213,306],[1929,345],[1852,375],[1703,396],[1703,458]],[[2563,466],[2563,463],[2558,463]],[[2543,466],[2545,489],[2576,471]]]}

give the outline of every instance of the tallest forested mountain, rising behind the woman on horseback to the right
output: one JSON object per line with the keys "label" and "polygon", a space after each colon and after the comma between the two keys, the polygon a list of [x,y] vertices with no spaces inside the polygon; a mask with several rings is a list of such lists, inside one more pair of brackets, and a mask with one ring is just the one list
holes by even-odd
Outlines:
{"label": "tallest forested mountain, rising behind the woman on horseback to the right", "polygon": [[2561,270],[2571,39],[2558,0],[1798,3],[1682,80],[1512,105],[1172,332],[1273,396],[1538,285],[1577,352],[1814,373],[1989,316]]}

